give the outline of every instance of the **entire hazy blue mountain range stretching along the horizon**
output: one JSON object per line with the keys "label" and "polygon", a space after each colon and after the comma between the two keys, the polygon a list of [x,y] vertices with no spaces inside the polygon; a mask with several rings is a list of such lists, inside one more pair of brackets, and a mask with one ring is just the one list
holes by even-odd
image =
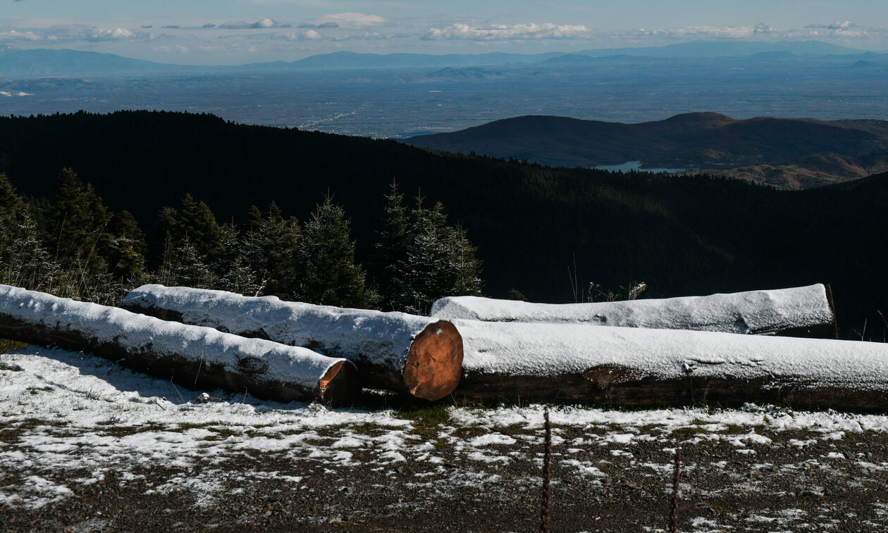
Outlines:
{"label": "entire hazy blue mountain range stretching along the horizon", "polygon": [[[0,78],[35,78],[53,76],[99,76],[131,74],[226,73],[253,71],[287,71],[294,69],[345,68],[419,68],[419,67],[483,67],[522,65],[546,62],[587,61],[613,56],[657,58],[741,57],[758,53],[789,52],[796,55],[860,55],[860,60],[881,57],[836,44],[818,41],[706,42],[670,44],[661,47],[587,50],[576,53],[548,52],[541,54],[369,54],[338,51],[297,61],[273,61],[228,67],[172,65],[142,59],[123,58],[92,51],[30,49],[17,50],[0,46]],[[879,63],[876,63],[878,65]]]}

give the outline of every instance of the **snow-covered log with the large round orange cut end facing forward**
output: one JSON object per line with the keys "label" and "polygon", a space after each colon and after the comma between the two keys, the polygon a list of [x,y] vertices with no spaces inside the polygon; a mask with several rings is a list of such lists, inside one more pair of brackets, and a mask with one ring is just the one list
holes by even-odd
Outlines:
{"label": "snow-covered log with the large round orange cut end facing forward", "polygon": [[463,341],[446,320],[162,285],[140,286],[121,307],[345,357],[365,386],[426,400],[450,394],[462,373]]}

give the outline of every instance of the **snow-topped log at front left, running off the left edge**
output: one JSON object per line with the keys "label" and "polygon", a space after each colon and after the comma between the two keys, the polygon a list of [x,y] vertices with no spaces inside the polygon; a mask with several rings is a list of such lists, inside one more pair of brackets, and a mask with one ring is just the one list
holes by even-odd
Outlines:
{"label": "snow-topped log at front left, running off the left edge", "polygon": [[357,370],[342,358],[96,303],[0,285],[0,338],[83,351],[188,387],[280,402],[352,404]]}

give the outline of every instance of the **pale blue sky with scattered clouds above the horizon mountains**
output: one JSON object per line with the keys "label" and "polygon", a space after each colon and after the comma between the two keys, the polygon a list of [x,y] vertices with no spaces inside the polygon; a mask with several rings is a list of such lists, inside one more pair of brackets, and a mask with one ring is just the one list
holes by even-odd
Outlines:
{"label": "pale blue sky with scattered clouds above the horizon mountains", "polygon": [[581,51],[694,40],[818,40],[888,51],[885,0],[0,0],[0,47],[164,63],[333,51]]}

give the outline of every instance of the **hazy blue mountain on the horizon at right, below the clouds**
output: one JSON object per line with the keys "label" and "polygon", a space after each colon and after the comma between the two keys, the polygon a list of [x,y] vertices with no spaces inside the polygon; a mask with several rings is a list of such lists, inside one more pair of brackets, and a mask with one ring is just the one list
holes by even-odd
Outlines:
{"label": "hazy blue mountain on the horizon at right, below the clouds", "polygon": [[822,41],[778,41],[765,43],[758,41],[691,41],[690,43],[667,44],[666,46],[646,46],[640,48],[600,48],[580,51],[587,56],[650,56],[663,58],[689,57],[731,57],[773,51],[789,51],[800,56],[823,56],[827,54],[848,55],[864,51],[823,43]]}

